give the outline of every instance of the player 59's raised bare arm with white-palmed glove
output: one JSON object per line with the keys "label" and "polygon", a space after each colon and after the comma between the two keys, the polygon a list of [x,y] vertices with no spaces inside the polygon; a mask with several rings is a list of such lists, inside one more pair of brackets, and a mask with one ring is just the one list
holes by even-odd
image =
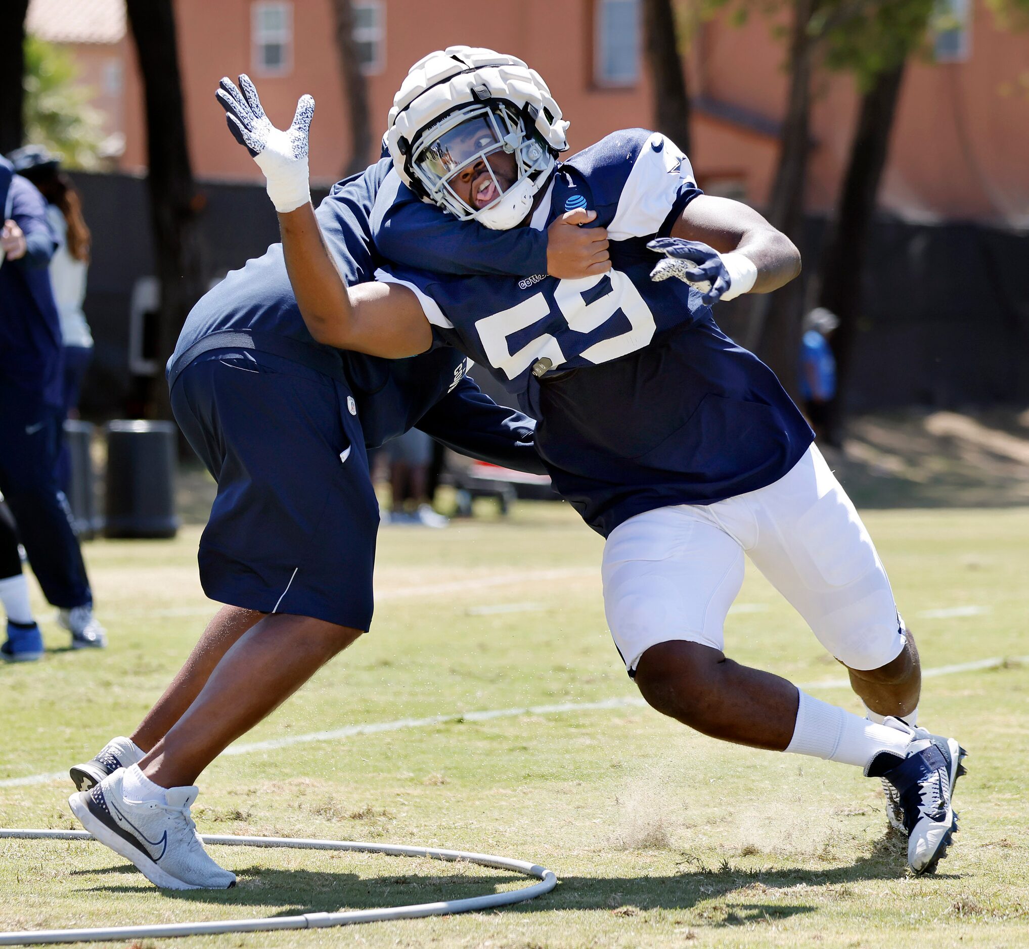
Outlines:
{"label": "player 59's raised bare arm with white-palmed glove", "polygon": [[415,294],[395,284],[348,288],[336,269],[311,205],[308,130],[315,102],[303,96],[289,129],[276,129],[249,77],[222,79],[216,93],[228,129],[264,173],[279,213],[282,251],[296,302],[319,342],[399,359],[424,353],[432,330]]}

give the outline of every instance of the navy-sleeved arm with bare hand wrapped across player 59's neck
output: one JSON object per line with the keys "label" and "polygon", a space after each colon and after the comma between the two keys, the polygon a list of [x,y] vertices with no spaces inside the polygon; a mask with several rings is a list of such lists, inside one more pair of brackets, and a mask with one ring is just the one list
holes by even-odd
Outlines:
{"label": "navy-sleeved arm with bare hand wrapped across player 59's neck", "polygon": [[435,273],[566,280],[611,268],[606,229],[580,226],[597,217],[595,211],[568,211],[545,231],[490,230],[419,200],[395,174],[390,179],[376,199],[371,232],[379,253],[395,263]]}

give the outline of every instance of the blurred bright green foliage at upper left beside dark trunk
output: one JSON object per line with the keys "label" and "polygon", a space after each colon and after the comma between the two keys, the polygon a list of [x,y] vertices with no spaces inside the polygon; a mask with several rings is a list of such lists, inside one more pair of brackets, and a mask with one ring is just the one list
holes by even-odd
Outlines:
{"label": "blurred bright green foliage at upper left beside dark trunk", "polygon": [[25,140],[60,152],[66,168],[101,163],[104,133],[91,92],[75,82],[71,56],[29,36],[25,41]]}

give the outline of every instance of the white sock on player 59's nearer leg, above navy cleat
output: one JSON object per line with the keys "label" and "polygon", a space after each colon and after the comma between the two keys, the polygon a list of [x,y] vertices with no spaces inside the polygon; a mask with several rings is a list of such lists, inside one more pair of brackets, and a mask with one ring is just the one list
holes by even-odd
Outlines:
{"label": "white sock on player 59's nearer leg, above navy cleat", "polygon": [[865,768],[880,752],[892,752],[901,758],[911,744],[911,734],[888,725],[868,722],[828,702],[796,690],[801,703],[796,709],[793,737],[786,746],[795,755],[811,755]]}

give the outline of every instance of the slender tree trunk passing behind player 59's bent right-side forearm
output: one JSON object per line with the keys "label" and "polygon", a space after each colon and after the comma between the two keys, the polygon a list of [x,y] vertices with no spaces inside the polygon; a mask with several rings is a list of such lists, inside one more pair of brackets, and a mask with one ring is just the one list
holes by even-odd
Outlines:
{"label": "slender tree trunk passing behind player 59's bent right-side forearm", "polygon": [[[811,141],[811,76],[817,40],[810,24],[820,0],[795,0],[789,40],[789,96],[782,125],[782,145],[767,216],[794,244],[801,245],[804,226],[804,185]],[[757,353],[796,397],[801,311],[804,290],[793,280],[772,294],[753,297],[745,345]]]}

